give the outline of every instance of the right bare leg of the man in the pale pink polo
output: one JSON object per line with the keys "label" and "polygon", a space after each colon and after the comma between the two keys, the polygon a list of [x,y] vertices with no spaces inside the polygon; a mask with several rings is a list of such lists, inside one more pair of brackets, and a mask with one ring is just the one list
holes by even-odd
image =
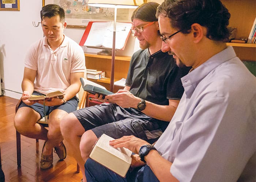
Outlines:
{"label": "right bare leg of the man in the pale pink polo", "polygon": [[60,120],[68,113],[63,110],[53,110],[49,115],[49,131],[47,134],[47,142],[43,150],[43,155],[51,155],[53,147],[59,146],[63,141],[63,137],[60,131]]}

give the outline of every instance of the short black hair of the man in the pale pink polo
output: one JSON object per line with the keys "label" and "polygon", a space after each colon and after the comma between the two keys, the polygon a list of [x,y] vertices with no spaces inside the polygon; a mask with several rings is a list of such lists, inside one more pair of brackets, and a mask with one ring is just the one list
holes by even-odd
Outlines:
{"label": "short black hair of the man in the pale pink polo", "polygon": [[43,17],[51,18],[53,16],[60,15],[60,21],[64,23],[65,21],[65,11],[57,4],[48,4],[42,7],[40,11],[41,20]]}

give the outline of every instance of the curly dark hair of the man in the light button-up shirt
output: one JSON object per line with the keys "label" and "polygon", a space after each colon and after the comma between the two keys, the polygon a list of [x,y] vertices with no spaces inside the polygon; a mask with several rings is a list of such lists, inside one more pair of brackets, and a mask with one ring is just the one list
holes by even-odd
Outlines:
{"label": "curly dark hair of the man in the light button-up shirt", "polygon": [[170,19],[173,28],[189,33],[191,25],[198,23],[207,28],[207,37],[226,42],[229,39],[230,13],[220,0],[165,0],[156,16]]}

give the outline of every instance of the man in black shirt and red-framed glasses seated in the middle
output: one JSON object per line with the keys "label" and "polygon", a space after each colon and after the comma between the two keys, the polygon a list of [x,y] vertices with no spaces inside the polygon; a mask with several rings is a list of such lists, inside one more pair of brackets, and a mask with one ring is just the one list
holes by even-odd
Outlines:
{"label": "man in black shirt and red-framed glasses seated in the middle", "polygon": [[107,95],[104,100],[110,103],[86,107],[61,120],[65,143],[78,161],[83,179],[84,163],[103,133],[112,138],[135,135],[153,143],[176,111],[184,92],[180,78],[189,68],[178,68],[173,57],[161,51],[155,17],[158,5],[145,3],[133,12],[131,31],[141,50],[132,55],[124,89]]}

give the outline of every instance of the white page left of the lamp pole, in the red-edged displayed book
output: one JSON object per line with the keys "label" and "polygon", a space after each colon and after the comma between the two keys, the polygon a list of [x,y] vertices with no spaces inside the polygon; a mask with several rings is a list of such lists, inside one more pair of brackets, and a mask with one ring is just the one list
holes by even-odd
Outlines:
{"label": "white page left of the lamp pole, in the red-edged displayed book", "polygon": [[91,25],[89,35],[84,43],[84,46],[102,46],[105,38],[106,29],[111,25],[111,21],[108,22],[94,22]]}

